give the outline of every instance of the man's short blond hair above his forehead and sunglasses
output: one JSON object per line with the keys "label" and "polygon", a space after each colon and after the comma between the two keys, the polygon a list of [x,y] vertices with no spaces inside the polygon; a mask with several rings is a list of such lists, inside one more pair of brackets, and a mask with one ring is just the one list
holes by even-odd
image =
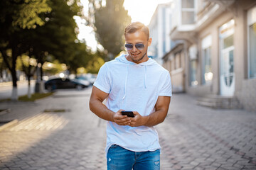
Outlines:
{"label": "man's short blond hair above his forehead and sunglasses", "polygon": [[135,33],[137,30],[142,30],[147,36],[147,39],[149,40],[149,28],[145,26],[143,23],[140,22],[134,22],[130,23],[125,29],[124,29],[124,36],[129,33]]}

